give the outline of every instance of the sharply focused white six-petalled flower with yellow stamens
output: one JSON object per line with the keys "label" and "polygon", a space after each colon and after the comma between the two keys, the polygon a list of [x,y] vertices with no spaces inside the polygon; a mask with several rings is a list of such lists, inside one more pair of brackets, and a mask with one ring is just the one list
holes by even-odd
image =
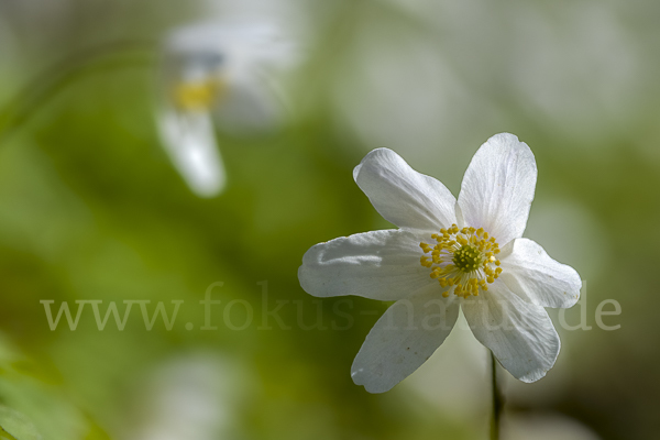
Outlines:
{"label": "sharply focused white six-petalled flower with yellow stamens", "polygon": [[353,177],[399,229],[317,244],[298,271],[314,296],[396,301],[358,353],[353,381],[371,393],[391,389],[440,346],[459,309],[515,377],[543,377],[560,349],[543,307],[571,307],[582,282],[522,238],[537,179],[527,144],[508,133],[491,138],[472,158],[458,201],[387,148],[367,154]]}

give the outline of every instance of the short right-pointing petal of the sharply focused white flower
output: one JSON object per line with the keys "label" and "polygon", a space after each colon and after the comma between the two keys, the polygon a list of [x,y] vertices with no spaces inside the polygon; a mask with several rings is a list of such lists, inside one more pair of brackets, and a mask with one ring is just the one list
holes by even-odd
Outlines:
{"label": "short right-pointing petal of the sharply focused white flower", "polygon": [[572,307],[580,299],[582,280],[571,266],[558,263],[543,248],[516,239],[503,250],[501,279],[520,298],[542,307]]}

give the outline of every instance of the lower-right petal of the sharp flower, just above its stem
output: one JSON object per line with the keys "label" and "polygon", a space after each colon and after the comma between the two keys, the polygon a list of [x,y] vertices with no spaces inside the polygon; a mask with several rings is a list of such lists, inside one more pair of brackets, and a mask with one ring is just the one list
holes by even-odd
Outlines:
{"label": "lower-right petal of the sharp flower, just above its stem", "polygon": [[560,341],[546,309],[509,292],[504,283],[462,301],[474,337],[522,382],[536,382],[554,365]]}

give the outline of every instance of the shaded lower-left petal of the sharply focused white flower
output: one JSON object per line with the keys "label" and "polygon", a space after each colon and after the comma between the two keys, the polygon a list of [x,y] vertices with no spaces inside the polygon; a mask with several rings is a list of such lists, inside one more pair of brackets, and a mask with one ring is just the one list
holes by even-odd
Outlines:
{"label": "shaded lower-left petal of the sharply focused white flower", "polygon": [[408,377],[451,332],[459,302],[444,299],[440,286],[402,299],[387,309],[360,349],[351,376],[370,393],[384,393]]}

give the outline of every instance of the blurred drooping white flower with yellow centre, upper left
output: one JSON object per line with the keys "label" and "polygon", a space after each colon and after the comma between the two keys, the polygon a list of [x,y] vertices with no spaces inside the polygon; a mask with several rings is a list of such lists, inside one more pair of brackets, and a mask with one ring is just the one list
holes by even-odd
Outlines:
{"label": "blurred drooping white flower with yellow centre, upper left", "polygon": [[283,102],[268,69],[290,64],[292,53],[278,29],[258,20],[195,24],[169,35],[157,122],[195,194],[212,197],[226,184],[213,122],[232,134],[279,124]]}

